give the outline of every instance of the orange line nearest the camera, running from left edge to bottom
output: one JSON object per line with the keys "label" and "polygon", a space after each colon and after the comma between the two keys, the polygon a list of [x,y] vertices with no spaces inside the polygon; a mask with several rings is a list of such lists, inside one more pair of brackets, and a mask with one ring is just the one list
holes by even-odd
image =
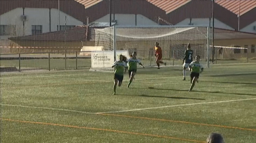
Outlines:
{"label": "orange line nearest the camera, running from left edge to bottom", "polygon": [[110,129],[101,129],[101,128],[93,128],[93,127],[80,127],[80,126],[72,126],[72,125],[66,125],[66,124],[43,123],[43,122],[37,122],[37,121],[12,120],[12,119],[8,119],[8,118],[0,118],[0,120],[14,121],[14,122],[19,122],[19,123],[44,124],[44,125],[51,125],[51,126],[72,127],[72,128],[77,128],[77,129],[101,130],[101,131],[107,131],[107,132],[127,133],[127,134],[131,134],[131,135],[143,135],[143,136],[152,136],[152,137],[157,137],[157,138],[168,138],[168,139],[176,139],[176,140],[181,140],[181,141],[204,143],[203,141],[196,141],[193,139],[174,138],[174,137],[170,137],[170,136],[152,135],[152,134],[146,134],[146,133],[126,132],[126,131],[122,131],[122,130],[110,130]]}

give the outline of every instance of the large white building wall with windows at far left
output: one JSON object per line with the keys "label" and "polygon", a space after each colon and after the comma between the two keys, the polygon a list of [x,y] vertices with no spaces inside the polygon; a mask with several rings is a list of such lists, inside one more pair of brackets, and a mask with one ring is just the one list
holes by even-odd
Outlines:
{"label": "large white building wall with windows at far left", "polygon": [[[42,25],[42,32],[50,32],[50,10],[49,8],[25,8],[24,15],[27,21],[24,23],[21,16],[23,8],[16,8],[0,16],[0,25],[16,25],[16,36],[31,35],[32,25]],[[67,16],[66,25],[83,25],[83,22],[60,11],[60,25],[65,25],[65,16]],[[51,9],[51,31],[57,31],[58,10]],[[10,35],[1,35],[1,39],[8,39]]]}

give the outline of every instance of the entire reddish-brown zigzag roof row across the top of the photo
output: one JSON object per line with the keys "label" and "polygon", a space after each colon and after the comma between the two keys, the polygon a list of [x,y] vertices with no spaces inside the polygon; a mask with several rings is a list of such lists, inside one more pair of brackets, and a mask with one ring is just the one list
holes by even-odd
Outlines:
{"label": "entire reddish-brown zigzag roof row across the top of the photo", "polygon": [[[256,21],[256,1],[240,1],[240,29]],[[60,10],[69,16],[89,23],[106,16],[109,13],[107,0],[61,0]],[[0,15],[20,7],[28,8],[58,8],[57,0],[1,0]],[[158,22],[158,17],[167,23],[176,25],[185,19],[210,18],[212,1],[197,0],[113,0],[113,14],[141,14],[148,19]],[[237,11],[239,0],[216,0],[214,17],[222,23],[237,29]],[[114,19],[114,17],[112,17]],[[161,22],[160,24],[166,25]]]}

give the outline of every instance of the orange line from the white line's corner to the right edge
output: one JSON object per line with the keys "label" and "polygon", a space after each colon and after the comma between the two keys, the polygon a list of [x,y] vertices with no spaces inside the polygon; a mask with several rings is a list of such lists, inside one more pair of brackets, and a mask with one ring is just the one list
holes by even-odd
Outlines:
{"label": "orange line from the white line's corner to the right edge", "polygon": [[140,118],[140,119],[155,120],[155,121],[169,121],[169,122],[173,122],[173,123],[195,124],[195,125],[211,126],[211,127],[223,127],[223,128],[229,128],[229,129],[250,130],[250,131],[255,131],[256,132],[256,129],[222,126],[222,125],[216,125],[216,124],[202,124],[202,123],[193,123],[193,122],[188,122],[188,121],[166,120],[166,119],[160,119],[160,118],[136,117],[136,116],[131,116],[131,115],[118,115],[118,114],[99,114],[99,115],[111,115],[111,116],[126,117],[126,118]]}

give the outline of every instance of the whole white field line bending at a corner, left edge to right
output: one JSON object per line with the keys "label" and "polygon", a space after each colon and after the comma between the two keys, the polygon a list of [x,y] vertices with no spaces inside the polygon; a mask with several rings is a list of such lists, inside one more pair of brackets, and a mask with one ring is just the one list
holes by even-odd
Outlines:
{"label": "whole white field line bending at a corner, left edge to right", "polygon": [[225,102],[251,101],[251,100],[256,100],[256,98],[251,98],[251,99],[237,99],[237,100],[229,100],[229,101],[202,102],[202,103],[196,103],[196,104],[169,105],[169,106],[164,106],[164,107],[128,109],[128,110],[108,111],[108,112],[85,112],[85,111],[76,111],[76,110],[71,110],[71,109],[47,108],[47,107],[29,107],[29,106],[11,105],[11,104],[0,104],[0,105],[2,105],[2,106],[9,106],[9,107],[23,107],[23,108],[49,109],[49,110],[68,111],[68,112],[80,112],[80,113],[84,113],[84,114],[106,114],[106,113],[115,113],[115,112],[142,111],[142,110],[146,110],[146,109],[159,109],[159,108],[170,108],[170,107],[184,107],[184,106],[192,106],[192,105],[218,104],[218,103],[225,103]]}

